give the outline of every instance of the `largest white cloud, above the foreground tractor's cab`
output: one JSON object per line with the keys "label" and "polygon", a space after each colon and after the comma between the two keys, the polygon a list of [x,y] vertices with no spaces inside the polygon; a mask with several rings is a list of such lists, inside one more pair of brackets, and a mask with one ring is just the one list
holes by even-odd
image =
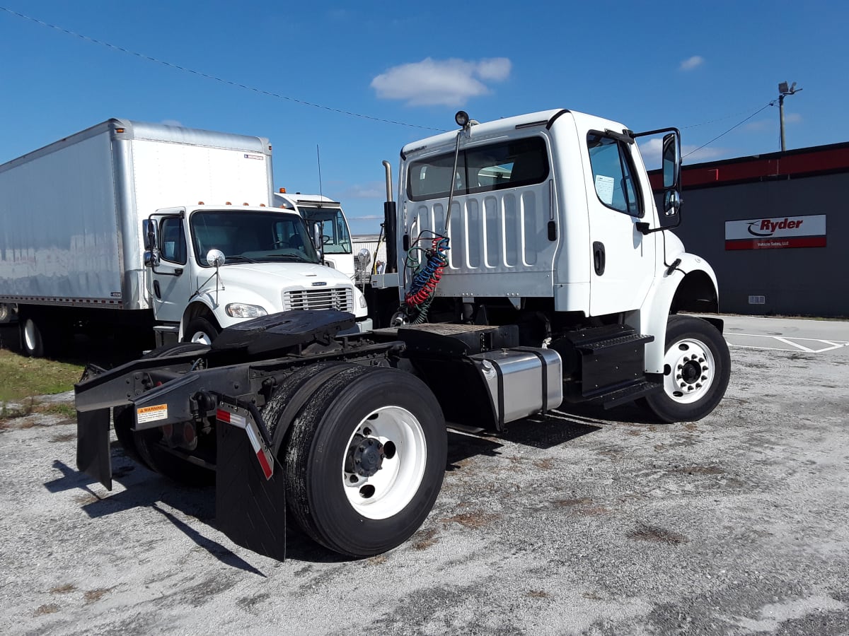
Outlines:
{"label": "largest white cloud, above the foreground tractor's cab", "polygon": [[402,99],[409,106],[462,106],[469,98],[490,92],[484,81],[506,80],[511,68],[507,58],[425,58],[393,66],[375,77],[371,86],[378,98]]}

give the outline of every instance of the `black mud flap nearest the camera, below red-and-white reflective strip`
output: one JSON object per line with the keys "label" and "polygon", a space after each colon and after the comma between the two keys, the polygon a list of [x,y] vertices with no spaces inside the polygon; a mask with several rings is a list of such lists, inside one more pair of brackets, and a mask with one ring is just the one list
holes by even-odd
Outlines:
{"label": "black mud flap nearest the camera, below red-and-white reflective strip", "polygon": [[[216,422],[216,527],[234,544],[278,561],[286,559],[286,484],[280,466],[267,478],[250,426]],[[234,418],[235,419],[235,418]],[[244,418],[243,418],[244,419]],[[254,425],[256,427],[256,425]],[[256,431],[256,428],[254,429]],[[266,446],[267,448],[267,446]]]}

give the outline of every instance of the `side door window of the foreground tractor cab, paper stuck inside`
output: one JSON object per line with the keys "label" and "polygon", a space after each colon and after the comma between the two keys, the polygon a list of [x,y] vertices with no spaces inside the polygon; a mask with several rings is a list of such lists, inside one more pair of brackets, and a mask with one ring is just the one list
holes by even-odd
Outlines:
{"label": "side door window of the foreground tractor cab, paper stuck inside", "polygon": [[643,216],[643,204],[634,183],[627,143],[591,131],[587,136],[593,185],[599,201],[626,215]]}

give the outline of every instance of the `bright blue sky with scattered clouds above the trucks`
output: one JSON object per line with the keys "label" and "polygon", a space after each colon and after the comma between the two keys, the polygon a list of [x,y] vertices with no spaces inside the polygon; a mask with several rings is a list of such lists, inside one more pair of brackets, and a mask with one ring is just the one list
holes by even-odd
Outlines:
{"label": "bright blue sky with scattered clouds above the trucks", "polygon": [[778,151],[767,104],[796,81],[787,148],[849,141],[847,32],[839,2],[0,0],[0,163],[121,117],[268,137],[275,185],[318,192],[318,146],[323,193],[376,233],[381,160],[461,108],[678,126],[697,163]]}

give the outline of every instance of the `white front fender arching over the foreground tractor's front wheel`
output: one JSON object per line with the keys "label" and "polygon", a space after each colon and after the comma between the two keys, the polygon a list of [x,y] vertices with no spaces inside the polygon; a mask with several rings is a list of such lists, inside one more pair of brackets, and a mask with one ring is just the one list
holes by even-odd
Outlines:
{"label": "white front fender arching over the foreground tractor's front wheel", "polygon": [[686,252],[676,254],[676,259],[681,262],[672,271],[664,267],[655,278],[642,307],[626,316],[628,324],[639,325],[640,333],[655,337],[654,342],[645,345],[647,373],[663,373],[666,322],[670,313],[719,309],[717,275],[711,265]]}

